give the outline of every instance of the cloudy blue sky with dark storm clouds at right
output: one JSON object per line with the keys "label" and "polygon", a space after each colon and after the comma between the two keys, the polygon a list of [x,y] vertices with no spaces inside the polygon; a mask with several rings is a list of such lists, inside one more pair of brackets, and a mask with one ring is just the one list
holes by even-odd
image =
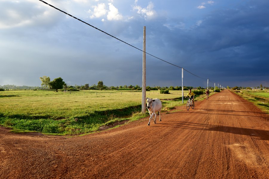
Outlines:
{"label": "cloudy blue sky with dark storm clouds at right", "polygon": [[[146,52],[194,74],[184,86],[269,86],[268,0],[45,1],[141,50],[146,26]],[[1,0],[0,39],[0,85],[142,86],[140,50],[39,0]],[[146,85],[181,86],[158,58],[146,55]]]}

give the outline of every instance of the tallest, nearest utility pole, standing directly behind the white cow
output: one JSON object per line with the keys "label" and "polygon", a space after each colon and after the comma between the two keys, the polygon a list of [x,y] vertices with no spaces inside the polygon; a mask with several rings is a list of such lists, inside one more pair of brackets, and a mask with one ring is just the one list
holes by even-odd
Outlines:
{"label": "tallest, nearest utility pole, standing directly behind the white cow", "polygon": [[146,112],[146,26],[143,30],[142,110]]}

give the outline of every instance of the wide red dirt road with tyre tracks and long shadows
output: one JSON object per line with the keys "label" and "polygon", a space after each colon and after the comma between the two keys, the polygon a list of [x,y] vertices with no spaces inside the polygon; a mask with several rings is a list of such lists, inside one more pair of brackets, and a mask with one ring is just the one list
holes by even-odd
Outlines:
{"label": "wide red dirt road with tyre tracks and long shadows", "polygon": [[269,115],[228,90],[195,104],[82,137],[0,127],[0,178],[269,178]]}

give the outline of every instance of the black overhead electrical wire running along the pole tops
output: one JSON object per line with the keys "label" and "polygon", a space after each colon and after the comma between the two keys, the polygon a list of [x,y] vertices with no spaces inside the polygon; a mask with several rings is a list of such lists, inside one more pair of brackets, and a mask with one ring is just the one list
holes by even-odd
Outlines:
{"label": "black overhead electrical wire running along the pole tops", "polygon": [[[42,0],[39,0],[39,1],[41,1],[41,2],[43,2],[43,3],[45,3],[45,4],[47,4],[47,5],[49,5],[50,7],[53,7],[53,8],[56,9],[56,10],[61,11],[62,13],[65,13],[65,14],[68,15],[68,16],[71,16],[71,17],[77,19],[78,21],[83,22],[84,24],[89,25],[90,27],[95,28],[96,30],[101,31],[102,33],[105,33],[105,34],[107,34],[107,35],[109,35],[109,36],[111,36],[111,37],[113,37],[113,38],[116,38],[115,36],[112,36],[112,35],[110,35],[109,33],[106,33],[106,32],[104,32],[103,30],[98,29],[97,27],[94,27],[93,25],[91,25],[91,24],[89,24],[89,23],[87,23],[87,22],[82,21],[81,19],[76,18],[75,16],[72,16],[71,14],[68,14],[68,13],[64,12],[63,10],[60,10],[59,8],[53,6],[53,5],[51,5],[51,4],[49,4],[49,3],[45,2],[45,1],[42,1]],[[119,41],[121,41],[121,42],[123,42],[123,43],[125,43],[125,44],[127,44],[127,45],[130,45],[131,47],[136,48],[137,50],[140,50],[140,51],[144,52],[143,50],[141,50],[141,49],[139,49],[139,48],[137,48],[137,47],[135,47],[135,46],[133,46],[133,45],[131,45],[131,44],[128,44],[127,42],[122,41],[122,40],[119,39],[119,38],[116,38],[116,39],[119,40]],[[161,59],[161,58],[158,58],[158,57],[156,57],[156,56],[154,56],[154,55],[151,55],[150,53],[147,53],[147,52],[144,52],[144,53],[146,53],[146,54],[148,54],[148,55],[150,55],[150,56],[153,56],[153,57],[155,57],[155,58],[157,58],[157,59],[159,59],[159,60],[161,60],[161,61],[164,61],[164,62],[166,62],[166,63],[168,63],[168,64],[170,64],[170,65],[173,65],[173,66],[175,66],[175,67],[179,67],[179,66],[177,66],[177,65],[175,65],[175,64],[172,64],[172,63],[170,63],[170,62],[168,62],[168,61],[165,61],[165,60],[163,60],[163,59]],[[179,68],[182,68],[182,67],[179,67]],[[186,70],[186,69],[184,69],[184,68],[182,68],[182,69],[185,70],[186,72],[189,72],[188,70]],[[198,78],[207,80],[206,78],[202,78],[202,77],[200,77],[200,76],[197,76],[197,75],[193,74],[192,72],[189,72],[189,73],[192,74],[192,75],[194,75],[194,76],[196,76],[196,77],[198,77]],[[209,80],[209,81],[210,81],[210,80]],[[210,82],[212,82],[212,81],[210,81]],[[212,83],[213,83],[213,82],[212,82]]]}

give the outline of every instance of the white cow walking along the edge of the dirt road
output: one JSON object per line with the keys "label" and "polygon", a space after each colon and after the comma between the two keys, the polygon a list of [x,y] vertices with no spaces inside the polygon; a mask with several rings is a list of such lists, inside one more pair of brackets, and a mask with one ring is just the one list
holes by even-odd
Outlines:
{"label": "white cow walking along the edge of the dirt road", "polygon": [[[161,120],[161,109],[162,109],[162,102],[158,98],[152,99],[152,98],[146,98],[147,100],[147,109],[148,112],[150,113],[150,119],[153,117],[153,114],[155,115],[154,124],[156,124],[156,112],[159,113],[160,116],[160,121]],[[150,125],[150,120],[148,121],[148,126]]]}

